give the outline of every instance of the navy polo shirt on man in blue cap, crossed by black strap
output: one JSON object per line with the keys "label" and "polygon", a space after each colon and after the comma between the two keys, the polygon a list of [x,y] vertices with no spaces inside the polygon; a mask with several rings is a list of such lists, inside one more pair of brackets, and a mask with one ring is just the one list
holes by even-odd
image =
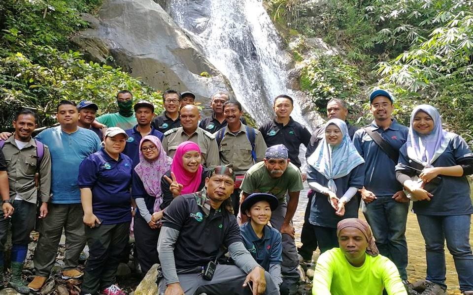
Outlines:
{"label": "navy polo shirt on man in blue cap, crossed by black strap", "polygon": [[[409,128],[399,124],[395,119],[386,130],[378,127],[374,121],[369,128],[373,131],[377,130],[395,150],[399,150],[405,144],[409,132]],[[391,160],[363,128],[355,132],[353,144],[365,159],[365,188],[367,190],[376,197],[392,197],[396,192],[403,190],[402,185],[396,179],[395,166],[397,162]]]}

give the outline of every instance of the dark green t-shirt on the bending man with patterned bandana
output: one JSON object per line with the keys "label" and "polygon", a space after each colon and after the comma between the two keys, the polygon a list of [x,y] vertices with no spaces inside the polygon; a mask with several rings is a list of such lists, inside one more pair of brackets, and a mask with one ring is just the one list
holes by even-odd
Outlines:
{"label": "dark green t-shirt on the bending man with patterned bandana", "polygon": [[286,171],[279,178],[272,178],[265,166],[265,162],[261,161],[251,166],[246,172],[240,189],[247,193],[270,193],[279,200],[284,200],[287,192],[297,192],[304,189],[302,176],[299,169],[294,164],[289,163]]}

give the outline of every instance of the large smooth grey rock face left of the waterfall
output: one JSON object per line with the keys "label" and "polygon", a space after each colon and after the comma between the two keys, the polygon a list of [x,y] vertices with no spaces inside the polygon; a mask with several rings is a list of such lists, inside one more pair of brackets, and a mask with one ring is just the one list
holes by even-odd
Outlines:
{"label": "large smooth grey rock face left of the waterfall", "polygon": [[[191,90],[205,101],[229,82],[169,17],[159,0],[105,0],[99,19],[72,41],[86,57],[120,66],[158,89]],[[202,77],[207,72],[210,77]]]}

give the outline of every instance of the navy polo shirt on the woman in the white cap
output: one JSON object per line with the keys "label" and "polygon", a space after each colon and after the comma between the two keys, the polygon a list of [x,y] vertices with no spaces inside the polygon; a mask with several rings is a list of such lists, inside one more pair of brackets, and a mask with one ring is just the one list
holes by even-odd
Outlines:
{"label": "navy polo shirt on the woman in the white cap", "polygon": [[120,153],[115,161],[101,148],[82,161],[77,182],[92,189],[93,213],[107,225],[132,220],[131,180],[132,159]]}

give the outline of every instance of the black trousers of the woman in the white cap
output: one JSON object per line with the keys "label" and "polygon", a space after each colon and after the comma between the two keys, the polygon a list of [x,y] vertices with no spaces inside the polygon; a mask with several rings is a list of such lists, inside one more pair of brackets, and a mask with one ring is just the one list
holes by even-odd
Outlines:
{"label": "black trousers of the woman in the white cap", "polygon": [[120,257],[130,237],[130,222],[102,224],[93,229],[85,226],[85,236],[90,256],[81,294],[96,294],[115,284]]}

